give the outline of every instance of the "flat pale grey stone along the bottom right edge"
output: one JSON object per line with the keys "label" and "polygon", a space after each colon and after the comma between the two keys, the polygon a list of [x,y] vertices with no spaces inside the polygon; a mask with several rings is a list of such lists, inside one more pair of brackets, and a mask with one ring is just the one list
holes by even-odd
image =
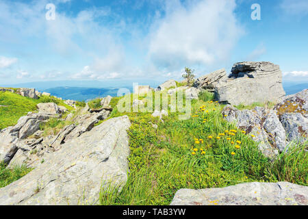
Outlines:
{"label": "flat pale grey stone along the bottom right edge", "polygon": [[288,182],[241,183],[177,191],[170,205],[307,205],[308,187]]}

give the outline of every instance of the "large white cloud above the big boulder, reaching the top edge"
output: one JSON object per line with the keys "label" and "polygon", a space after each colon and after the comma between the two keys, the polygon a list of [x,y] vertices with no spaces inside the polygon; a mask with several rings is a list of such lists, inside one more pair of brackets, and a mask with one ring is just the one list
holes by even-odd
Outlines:
{"label": "large white cloud above the big boulder, reaching the top edge", "polygon": [[149,55],[158,66],[183,68],[225,60],[242,27],[234,16],[235,1],[166,2],[166,16],[159,18],[150,34]]}

